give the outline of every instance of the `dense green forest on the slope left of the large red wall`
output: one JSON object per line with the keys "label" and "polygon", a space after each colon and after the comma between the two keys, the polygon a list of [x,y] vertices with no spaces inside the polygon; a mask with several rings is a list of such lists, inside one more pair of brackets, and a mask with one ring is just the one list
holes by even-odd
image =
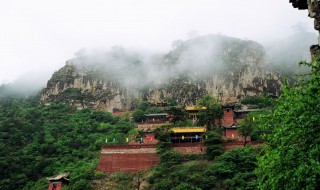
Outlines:
{"label": "dense green forest on the slope left of the large red wall", "polygon": [[106,137],[124,142],[133,124],[110,113],[36,101],[0,102],[0,189],[46,189],[70,172],[69,189],[88,189]]}

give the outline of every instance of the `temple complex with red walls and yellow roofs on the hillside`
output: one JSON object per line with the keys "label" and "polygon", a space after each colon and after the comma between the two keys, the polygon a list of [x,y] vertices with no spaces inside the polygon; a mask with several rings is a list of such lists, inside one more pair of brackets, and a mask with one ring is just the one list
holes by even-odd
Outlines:
{"label": "temple complex with red walls and yellow roofs on the hillside", "polygon": [[[206,107],[186,107],[189,119],[193,121],[199,115],[199,111]],[[245,118],[245,115],[260,111],[258,109],[236,110],[234,105],[222,106],[223,118],[217,120],[216,124],[223,127],[223,138],[228,140],[223,146],[229,149],[233,146],[243,146],[243,137],[238,133],[238,122]],[[156,151],[158,140],[154,130],[159,126],[170,123],[167,113],[145,114],[145,120],[138,124],[137,130],[142,132],[141,140],[133,142],[132,138],[125,145],[105,145],[102,147],[97,171],[112,173],[137,172],[149,169],[160,162]],[[171,146],[181,154],[205,154],[205,126],[174,127],[169,129]],[[231,141],[229,141],[231,140]],[[249,140],[250,141],[250,138]],[[230,144],[231,143],[231,144]],[[232,144],[233,143],[233,144]],[[51,190],[51,189],[50,189]],[[53,189],[52,189],[53,190]]]}

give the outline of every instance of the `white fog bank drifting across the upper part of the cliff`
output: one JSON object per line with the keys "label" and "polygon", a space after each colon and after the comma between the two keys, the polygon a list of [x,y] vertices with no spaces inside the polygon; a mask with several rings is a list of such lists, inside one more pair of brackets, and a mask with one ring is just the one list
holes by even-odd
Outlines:
{"label": "white fog bank drifting across the upper part of the cliff", "polygon": [[194,35],[188,40],[173,41],[165,53],[121,46],[81,49],[67,65],[75,66],[79,77],[93,73],[97,79],[141,88],[162,85],[181,76],[191,80],[226,77],[247,66],[287,76],[298,71],[299,61],[310,60],[309,46],[316,40],[315,33],[304,29],[265,43],[265,47],[252,40],[221,34]]}

